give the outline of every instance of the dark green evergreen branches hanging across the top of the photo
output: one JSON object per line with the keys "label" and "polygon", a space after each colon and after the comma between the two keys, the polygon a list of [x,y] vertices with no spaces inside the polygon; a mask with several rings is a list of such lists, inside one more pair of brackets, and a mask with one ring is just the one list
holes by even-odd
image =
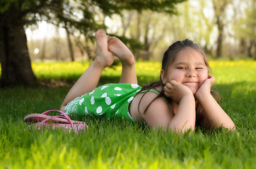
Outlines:
{"label": "dark green evergreen branches hanging across the top of the photo", "polygon": [[[11,0],[0,2],[0,14],[11,15],[23,20],[26,25],[45,20],[48,23],[60,27],[66,27],[69,32],[81,32],[90,37],[95,30],[105,28],[99,23],[95,15],[102,12],[105,15],[120,14],[122,10],[144,10],[160,11],[166,13],[177,13],[175,4],[185,0],[161,0],[161,1],[70,1],[70,0]],[[19,15],[15,15],[18,13]],[[0,17],[1,17],[0,15]]]}

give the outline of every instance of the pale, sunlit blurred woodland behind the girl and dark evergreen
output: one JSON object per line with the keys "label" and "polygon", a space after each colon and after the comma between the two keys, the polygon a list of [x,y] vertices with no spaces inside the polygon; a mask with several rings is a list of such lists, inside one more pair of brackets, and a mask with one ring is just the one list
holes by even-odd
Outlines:
{"label": "pale, sunlit blurred woodland behind the girl and dark evergreen", "polygon": [[[170,44],[186,38],[202,46],[211,58],[256,59],[255,6],[255,0],[189,0],[178,4],[175,11],[178,15],[168,15],[161,10],[161,13],[151,10],[122,10],[114,15],[104,15],[98,11],[95,17],[98,22],[106,25],[108,34],[119,36],[121,39],[127,37],[128,40],[124,41],[128,46],[132,46],[129,42],[141,43],[141,46],[138,44],[132,48],[136,59],[158,61]],[[35,53],[35,48],[42,54],[43,39],[33,37],[30,27],[28,32],[30,56],[40,61],[41,55]],[[62,33],[62,37],[47,38],[47,59],[55,59],[56,50],[59,50],[59,47],[52,44],[56,38],[62,42],[59,45],[59,52],[62,53],[59,54],[59,60],[71,61],[65,33]],[[129,41],[131,39],[136,41]],[[71,42],[76,61],[87,61],[94,57],[95,46],[91,40],[84,37],[79,44],[73,32]]]}

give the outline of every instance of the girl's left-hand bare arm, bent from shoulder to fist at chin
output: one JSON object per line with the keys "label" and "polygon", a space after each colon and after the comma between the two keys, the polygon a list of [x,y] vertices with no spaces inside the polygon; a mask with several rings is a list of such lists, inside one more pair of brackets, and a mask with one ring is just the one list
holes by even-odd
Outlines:
{"label": "girl's left-hand bare arm, bent from shoulder to fist at chin", "polygon": [[[171,108],[162,99],[158,98],[152,102],[146,113],[141,113],[141,118],[144,119],[149,127],[172,132],[186,132],[194,130],[195,125],[195,101],[192,91],[178,82],[170,82],[165,85],[165,95],[175,100],[178,108],[175,110],[175,115],[171,113]],[[139,112],[144,112],[149,103],[156,97],[152,92],[146,93],[139,105]],[[139,102],[141,98],[137,97],[134,102]]]}

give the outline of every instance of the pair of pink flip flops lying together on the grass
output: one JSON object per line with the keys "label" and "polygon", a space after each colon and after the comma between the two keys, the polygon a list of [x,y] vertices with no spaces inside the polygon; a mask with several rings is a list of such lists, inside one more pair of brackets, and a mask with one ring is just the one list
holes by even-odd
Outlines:
{"label": "pair of pink flip flops lying together on the grass", "polygon": [[[50,110],[50,111],[46,111],[44,113],[49,113],[49,112],[52,112],[52,111],[55,111],[55,110]],[[47,115],[49,116],[48,118],[45,118],[45,116],[39,116],[39,119],[42,120],[42,118],[45,118],[44,120],[42,120],[41,122],[39,123],[34,123],[33,125],[30,125],[29,127],[32,128],[32,127],[37,127],[38,130],[46,127],[49,129],[49,127],[52,127],[52,129],[58,129],[58,128],[63,128],[65,130],[68,130],[69,133],[71,132],[71,130],[74,130],[74,132],[76,134],[79,134],[83,131],[86,131],[88,130],[88,125],[86,125],[86,123],[83,123],[83,122],[80,122],[80,121],[74,121],[74,120],[71,120],[69,118],[69,115],[66,115],[66,113],[62,112],[62,111],[58,111],[59,113],[62,113],[64,116],[61,116],[61,115],[55,115],[55,116],[50,116],[50,115]],[[38,115],[38,114],[37,114]],[[41,114],[39,114],[41,115]],[[28,116],[28,115],[27,115]],[[26,117],[27,117],[26,116]],[[33,115],[30,115],[32,117],[35,117]],[[30,117],[29,116],[29,117]],[[24,121],[25,122],[29,122],[29,121],[34,121],[33,119],[38,119],[38,118],[24,118]],[[37,116],[38,117],[38,116]],[[42,117],[42,118],[41,118]],[[30,119],[30,120],[28,120]],[[55,119],[55,120],[54,120]],[[59,120],[61,119],[61,120]],[[47,121],[51,121],[52,123],[47,123]],[[73,123],[72,121],[74,122],[78,122],[78,123]],[[53,122],[57,122],[57,123],[53,123]],[[64,123],[69,123],[69,124],[62,124],[62,123],[59,123],[59,122],[64,122]]]}

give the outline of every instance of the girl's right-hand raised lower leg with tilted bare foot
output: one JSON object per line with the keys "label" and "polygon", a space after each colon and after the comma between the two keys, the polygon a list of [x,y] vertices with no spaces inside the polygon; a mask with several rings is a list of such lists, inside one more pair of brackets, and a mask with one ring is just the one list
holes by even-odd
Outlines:
{"label": "girl's right-hand raised lower leg with tilted bare foot", "polygon": [[120,58],[122,63],[120,83],[137,84],[134,55],[127,46],[117,37],[110,37],[107,42],[107,49]]}

